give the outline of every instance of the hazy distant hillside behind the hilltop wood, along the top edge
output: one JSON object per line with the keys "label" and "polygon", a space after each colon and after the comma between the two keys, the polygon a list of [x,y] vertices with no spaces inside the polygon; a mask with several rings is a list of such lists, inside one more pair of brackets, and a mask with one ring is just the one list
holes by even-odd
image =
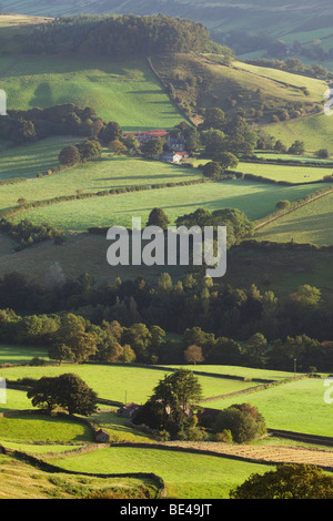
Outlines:
{"label": "hazy distant hillside behind the hilltop wood, along the top edge", "polygon": [[[238,55],[256,58],[272,54],[274,58],[287,55],[289,47],[295,41],[293,57],[305,63],[322,63],[329,70],[333,68],[333,9],[329,1],[300,2],[286,0],[245,0],[232,6],[219,0],[209,1],[173,0],[165,2],[143,0],[140,3],[129,0],[61,0],[57,4],[50,0],[28,0],[16,2],[3,0],[2,12],[61,17],[79,13],[163,13],[180,18],[191,18],[202,22],[211,31],[213,40],[230,45]],[[282,41],[284,45],[276,42]],[[280,55],[276,55],[280,54]]]}

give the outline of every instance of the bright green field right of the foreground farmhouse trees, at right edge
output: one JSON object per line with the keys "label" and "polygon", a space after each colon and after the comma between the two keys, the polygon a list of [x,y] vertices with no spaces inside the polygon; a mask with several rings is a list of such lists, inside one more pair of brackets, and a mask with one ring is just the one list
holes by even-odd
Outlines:
{"label": "bright green field right of the foreground farmhouse trees, at right edge", "polygon": [[246,397],[214,400],[206,407],[224,409],[232,403],[250,401],[258,407],[270,429],[332,436],[332,406],[324,401],[325,389],[324,380],[312,378],[271,387]]}

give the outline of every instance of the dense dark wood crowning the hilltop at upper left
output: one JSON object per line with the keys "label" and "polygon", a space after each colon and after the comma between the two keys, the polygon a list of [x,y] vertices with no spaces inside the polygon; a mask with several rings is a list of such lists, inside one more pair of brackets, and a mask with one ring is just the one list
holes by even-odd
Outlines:
{"label": "dense dark wood crowning the hilltop at upper left", "polygon": [[202,23],[164,14],[62,17],[31,31],[26,44],[32,53],[79,52],[112,58],[220,49]]}

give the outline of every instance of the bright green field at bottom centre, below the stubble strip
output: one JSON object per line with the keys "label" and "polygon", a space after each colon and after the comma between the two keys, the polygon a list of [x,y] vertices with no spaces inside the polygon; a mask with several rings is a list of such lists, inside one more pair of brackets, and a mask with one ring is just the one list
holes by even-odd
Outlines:
{"label": "bright green field at bottom centre, below the stubble strip", "polygon": [[154,472],[165,481],[168,498],[222,499],[251,473],[266,472],[270,466],[234,461],[214,456],[170,450],[109,448],[52,463],[79,472]]}

